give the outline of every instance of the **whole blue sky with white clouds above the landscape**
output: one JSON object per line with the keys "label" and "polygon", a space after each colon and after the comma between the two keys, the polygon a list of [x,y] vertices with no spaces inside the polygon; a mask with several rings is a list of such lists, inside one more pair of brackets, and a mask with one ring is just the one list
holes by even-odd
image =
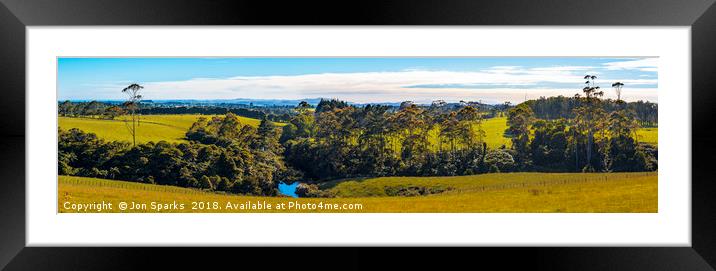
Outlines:
{"label": "whole blue sky with white clouds above the landscape", "polygon": [[605,98],[657,101],[658,58],[59,58],[58,100],[338,98],[354,103],[573,96],[596,75]]}

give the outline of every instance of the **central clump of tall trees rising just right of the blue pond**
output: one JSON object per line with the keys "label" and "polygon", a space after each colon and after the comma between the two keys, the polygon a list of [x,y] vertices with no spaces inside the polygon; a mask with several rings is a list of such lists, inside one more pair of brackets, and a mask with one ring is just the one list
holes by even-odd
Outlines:
{"label": "central clump of tall trees rising just right of the blue pond", "polygon": [[480,112],[404,102],[348,105],[323,100],[315,111],[299,105],[280,142],[286,162],[306,178],[452,176],[509,171],[506,150],[488,151]]}

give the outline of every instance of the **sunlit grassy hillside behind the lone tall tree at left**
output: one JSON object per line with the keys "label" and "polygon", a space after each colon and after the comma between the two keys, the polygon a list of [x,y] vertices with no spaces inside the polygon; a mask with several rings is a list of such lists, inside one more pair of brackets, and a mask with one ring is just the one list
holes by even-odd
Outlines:
{"label": "sunlit grassy hillside behind the lone tall tree at left", "polygon": [[[141,123],[137,129],[137,143],[149,141],[180,143],[191,125],[200,117],[211,117],[206,115],[144,115],[141,116]],[[257,127],[260,120],[237,116],[242,124]],[[92,118],[68,118],[59,117],[60,128],[69,130],[78,128],[82,131],[95,133],[100,138],[109,141],[132,141],[132,136],[126,127],[123,119],[102,120]]]}

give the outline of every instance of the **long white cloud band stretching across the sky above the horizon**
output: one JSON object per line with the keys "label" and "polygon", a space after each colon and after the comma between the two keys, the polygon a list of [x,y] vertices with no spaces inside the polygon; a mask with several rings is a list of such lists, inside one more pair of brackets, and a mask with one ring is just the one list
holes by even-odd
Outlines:
{"label": "long white cloud band stretching across the sky above the horizon", "polygon": [[[611,62],[607,67],[645,67],[646,64]],[[614,64],[622,63],[622,64]],[[648,64],[648,63],[647,63]],[[606,65],[606,64],[605,64]],[[145,99],[304,99],[339,98],[350,102],[400,102],[412,100],[430,102],[482,100],[500,103],[522,102],[540,96],[572,96],[578,87],[558,88],[575,84],[579,86],[585,71],[600,67],[553,66],[525,68],[520,66],[495,66],[483,71],[456,72],[430,70],[403,70],[394,72],[320,73],[285,76],[236,76],[229,78],[194,78],[180,81],[144,83]],[[604,68],[604,67],[601,67]],[[601,77],[601,76],[600,76]],[[620,81],[625,84],[622,97],[625,100],[644,99],[656,101],[656,78],[604,78],[601,82]],[[93,97],[116,97],[121,84],[97,85]],[[124,82],[122,82],[124,83]],[[459,87],[481,85],[476,88]],[[435,87],[439,86],[439,87]],[[521,86],[525,86],[521,88]],[[535,87],[539,86],[539,89]],[[602,87],[611,93],[606,83]],[[630,89],[629,87],[641,87]],[[70,97],[72,98],[72,97]],[[78,97],[79,98],[79,97]]]}

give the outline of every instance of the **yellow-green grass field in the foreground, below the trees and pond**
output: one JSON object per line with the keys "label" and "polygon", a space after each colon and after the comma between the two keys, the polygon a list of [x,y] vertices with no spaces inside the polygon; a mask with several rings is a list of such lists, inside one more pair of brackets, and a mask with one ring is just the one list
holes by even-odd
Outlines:
{"label": "yellow-green grass field in the foreground, below the trees and pond", "polygon": [[[77,206],[91,206],[93,203],[101,202],[112,205],[112,209],[105,208],[101,212],[654,213],[658,211],[656,172],[496,173],[460,177],[371,178],[323,185],[324,188],[336,193],[339,196],[337,198],[298,199],[226,195],[172,186],[70,176],[60,176],[58,183],[58,212],[60,213],[77,212]],[[440,194],[426,196],[385,196],[386,188],[408,186],[449,189]],[[120,202],[140,208],[122,211],[119,210]],[[277,209],[281,204],[284,209]],[[289,209],[292,204],[293,209]],[[267,205],[271,205],[272,209],[266,209]],[[178,206],[184,208],[173,209]],[[261,206],[262,209],[256,209]],[[161,207],[161,210],[158,210],[158,207]],[[88,212],[97,211],[88,210]]]}

